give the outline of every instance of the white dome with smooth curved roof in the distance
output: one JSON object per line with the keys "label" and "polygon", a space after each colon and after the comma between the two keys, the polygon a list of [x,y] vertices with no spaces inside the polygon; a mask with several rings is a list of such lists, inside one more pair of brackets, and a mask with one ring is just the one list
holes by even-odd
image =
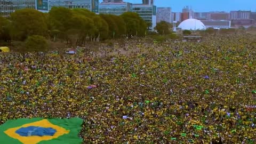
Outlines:
{"label": "white dome with smooth curved roof in the distance", "polygon": [[204,26],[204,23],[197,20],[197,19],[187,19],[185,21],[182,21],[178,28],[181,28],[182,30],[205,30],[206,27]]}

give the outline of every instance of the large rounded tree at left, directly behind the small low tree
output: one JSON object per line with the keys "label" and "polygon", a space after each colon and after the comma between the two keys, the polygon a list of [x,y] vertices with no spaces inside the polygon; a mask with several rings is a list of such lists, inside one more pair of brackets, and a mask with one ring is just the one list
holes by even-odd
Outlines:
{"label": "large rounded tree at left, directly behind the small low tree", "polygon": [[11,37],[25,40],[31,35],[47,35],[47,24],[44,14],[34,9],[21,9],[11,14]]}

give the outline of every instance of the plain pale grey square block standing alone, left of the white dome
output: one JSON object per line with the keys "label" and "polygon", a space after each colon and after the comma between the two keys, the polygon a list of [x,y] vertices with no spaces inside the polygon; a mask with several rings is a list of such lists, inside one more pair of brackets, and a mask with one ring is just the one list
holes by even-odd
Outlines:
{"label": "plain pale grey square block standing alone, left of the white dome", "polygon": [[160,21],[172,22],[171,7],[157,7],[156,22]]}

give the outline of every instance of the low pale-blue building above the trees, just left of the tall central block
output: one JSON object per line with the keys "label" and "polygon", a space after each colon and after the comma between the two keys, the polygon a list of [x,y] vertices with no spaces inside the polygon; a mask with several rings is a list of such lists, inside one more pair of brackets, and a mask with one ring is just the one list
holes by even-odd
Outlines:
{"label": "low pale-blue building above the trees, just left of the tall central block", "polygon": [[131,3],[100,3],[100,13],[121,15],[124,12],[132,12]]}

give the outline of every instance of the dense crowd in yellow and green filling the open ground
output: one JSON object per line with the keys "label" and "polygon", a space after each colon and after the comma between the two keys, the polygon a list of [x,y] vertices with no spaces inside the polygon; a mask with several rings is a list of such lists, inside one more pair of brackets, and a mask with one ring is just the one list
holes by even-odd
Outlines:
{"label": "dense crowd in yellow and green filling the open ground", "polygon": [[127,55],[93,59],[1,54],[0,124],[81,117],[84,143],[255,143],[253,42],[253,35],[140,39]]}

